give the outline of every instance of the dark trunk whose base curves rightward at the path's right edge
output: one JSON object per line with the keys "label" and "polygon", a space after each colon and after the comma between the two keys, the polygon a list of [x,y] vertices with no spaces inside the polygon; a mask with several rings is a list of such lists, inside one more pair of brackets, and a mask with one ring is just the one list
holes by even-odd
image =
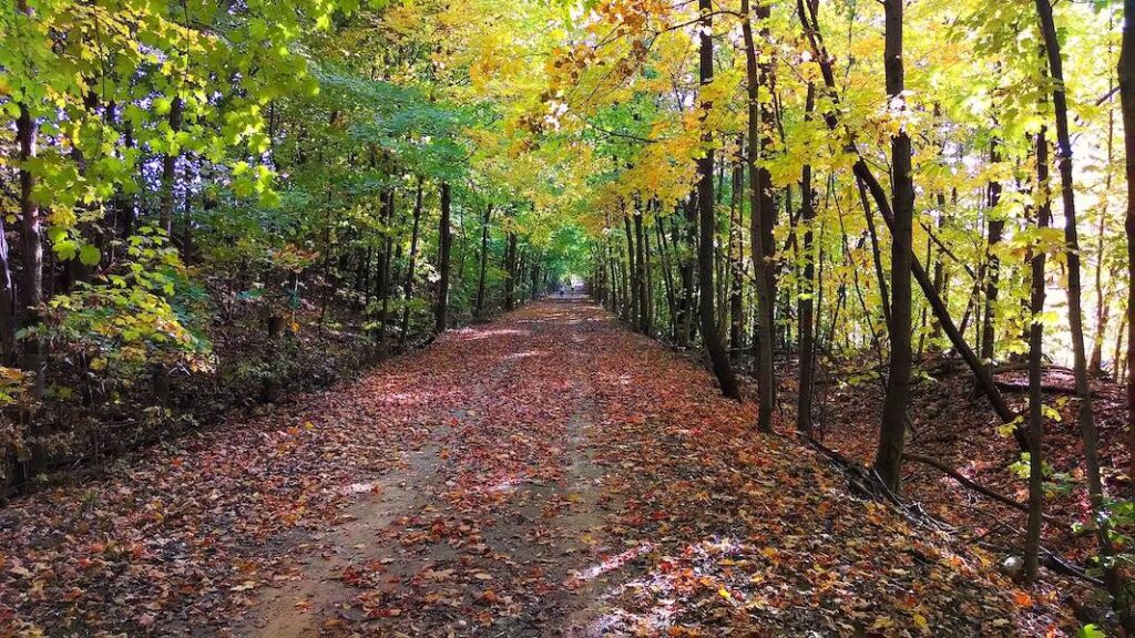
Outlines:
{"label": "dark trunk whose base curves rightward at the path's right edge", "polygon": [[[698,0],[698,10],[701,12],[701,33],[699,36],[698,77],[701,86],[706,86],[713,81],[713,2],[712,0]],[[708,112],[713,108],[713,102],[703,99],[701,109]],[[714,319],[714,233],[716,230],[716,215],[713,194],[713,131],[709,124],[703,120],[705,129],[701,133],[705,142],[705,156],[698,159],[698,219],[700,223],[701,240],[698,244],[698,284],[701,288],[699,300],[699,313],[701,316],[701,342],[705,344],[709,361],[713,363],[714,373],[721,384],[721,392],[730,398],[740,401],[741,389],[737,384],[733,367],[729,362],[729,353],[725,352],[721,343],[721,335],[717,333],[717,321]]]}

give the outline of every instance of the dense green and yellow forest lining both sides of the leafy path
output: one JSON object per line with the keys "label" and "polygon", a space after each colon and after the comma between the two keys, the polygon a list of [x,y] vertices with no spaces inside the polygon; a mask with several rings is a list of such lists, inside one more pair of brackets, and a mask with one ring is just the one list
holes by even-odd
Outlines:
{"label": "dense green and yellow forest lining both sides of the leafy path", "polygon": [[[1126,5],[6,0],[0,485],[586,280],[882,494],[993,482],[1135,630]],[[966,455],[911,452],[945,388]]]}

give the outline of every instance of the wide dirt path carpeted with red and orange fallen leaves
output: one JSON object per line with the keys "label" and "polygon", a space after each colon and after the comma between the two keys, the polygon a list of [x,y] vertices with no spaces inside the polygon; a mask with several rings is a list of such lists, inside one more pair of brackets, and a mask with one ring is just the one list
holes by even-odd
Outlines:
{"label": "wide dirt path carpeted with red and orange fallen leaves", "polygon": [[852,495],[586,300],[0,511],[0,636],[1001,636],[1054,588]]}

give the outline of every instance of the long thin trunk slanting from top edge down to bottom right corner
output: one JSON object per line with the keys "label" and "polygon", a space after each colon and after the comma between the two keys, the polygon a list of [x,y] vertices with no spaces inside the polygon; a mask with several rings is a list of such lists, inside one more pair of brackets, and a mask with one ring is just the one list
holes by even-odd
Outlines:
{"label": "long thin trunk slanting from top edge down to bottom right corner", "polygon": [[1036,0],[1036,12],[1041,22],[1041,34],[1044,37],[1044,52],[1048,56],[1049,74],[1053,82],[1052,107],[1056,114],[1057,166],[1060,170],[1060,199],[1063,204],[1065,217],[1065,258],[1068,265],[1068,326],[1071,330],[1076,394],[1081,402],[1079,430],[1081,438],[1084,442],[1084,469],[1087,479],[1088,496],[1092,501],[1092,513],[1096,523],[1101,562],[1105,565],[1111,565],[1104,569],[1103,580],[1108,585],[1108,591],[1111,594],[1112,604],[1119,614],[1120,623],[1124,630],[1130,635],[1135,632],[1135,619],[1132,618],[1130,610],[1127,606],[1126,586],[1124,585],[1123,574],[1116,565],[1111,564],[1115,547],[1111,543],[1103,482],[1100,478],[1095,414],[1092,406],[1092,392],[1088,387],[1087,356],[1084,352],[1079,236],[1076,227],[1076,193],[1071,170],[1071,138],[1068,133],[1068,103],[1065,95],[1060,42],[1057,39],[1056,23],[1052,19],[1052,6],[1049,5],[1049,0]]}

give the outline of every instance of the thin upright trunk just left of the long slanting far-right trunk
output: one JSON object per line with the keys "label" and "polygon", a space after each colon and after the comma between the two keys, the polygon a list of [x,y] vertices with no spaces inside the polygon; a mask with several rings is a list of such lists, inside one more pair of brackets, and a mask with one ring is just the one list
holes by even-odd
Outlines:
{"label": "thin upright trunk just left of the long slanting far-right trunk", "polygon": [[[1049,149],[1044,128],[1036,136],[1036,187],[1040,205],[1036,227],[1046,228],[1051,216],[1049,202]],[[1044,417],[1041,391],[1044,325],[1044,250],[1034,250],[1032,258],[1031,321],[1028,327],[1028,529],[1025,538],[1025,578],[1034,580],[1040,565],[1041,524],[1044,512]]]}

